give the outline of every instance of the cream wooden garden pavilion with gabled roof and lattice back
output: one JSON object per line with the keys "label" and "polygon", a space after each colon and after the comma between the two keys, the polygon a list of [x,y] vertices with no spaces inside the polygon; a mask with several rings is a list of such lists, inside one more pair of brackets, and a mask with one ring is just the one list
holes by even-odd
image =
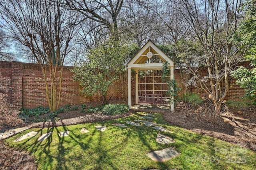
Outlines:
{"label": "cream wooden garden pavilion with gabled roof and lattice back", "polygon": [[[166,94],[168,88],[163,82],[162,68],[164,62],[170,67],[170,79],[174,78],[174,62],[160,50],[151,40],[128,63],[128,105],[132,107],[132,70],[135,71],[135,104],[163,103],[170,96]],[[153,94],[153,95],[152,95]],[[152,101],[148,98],[154,98]],[[159,99],[161,97],[161,100]],[[171,110],[174,104],[171,103]]]}

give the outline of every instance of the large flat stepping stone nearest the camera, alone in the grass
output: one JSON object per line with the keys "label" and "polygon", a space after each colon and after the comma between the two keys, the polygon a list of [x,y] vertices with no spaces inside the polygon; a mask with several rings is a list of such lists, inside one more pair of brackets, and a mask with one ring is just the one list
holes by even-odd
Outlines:
{"label": "large flat stepping stone nearest the camera, alone in the grass", "polygon": [[178,155],[180,155],[180,152],[171,147],[162,150],[156,150],[147,154],[149,158],[156,162],[165,162],[166,160],[170,160]]}

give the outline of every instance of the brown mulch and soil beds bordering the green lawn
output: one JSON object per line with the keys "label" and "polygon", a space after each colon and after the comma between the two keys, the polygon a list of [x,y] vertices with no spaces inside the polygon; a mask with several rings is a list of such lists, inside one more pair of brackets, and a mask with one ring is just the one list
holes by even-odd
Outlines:
{"label": "brown mulch and soil beds bordering the green lawn", "polygon": [[[123,103],[122,101],[112,101],[112,103]],[[89,103],[96,106],[98,103]],[[228,110],[223,112],[216,124],[202,120],[198,114],[184,114],[181,109],[175,112],[165,112],[163,117],[173,125],[206,134],[239,146],[256,150],[256,108],[247,107],[242,110]],[[98,122],[129,116],[134,110],[122,115],[106,116],[101,113],[83,113],[81,110],[68,110],[58,114],[58,122],[39,122],[33,124],[35,128],[49,126],[67,126],[73,124]],[[239,114],[242,113],[242,114]],[[45,116],[45,115],[42,115]],[[37,165],[32,156],[28,153],[8,148],[0,141],[0,169],[3,170],[36,170]]]}

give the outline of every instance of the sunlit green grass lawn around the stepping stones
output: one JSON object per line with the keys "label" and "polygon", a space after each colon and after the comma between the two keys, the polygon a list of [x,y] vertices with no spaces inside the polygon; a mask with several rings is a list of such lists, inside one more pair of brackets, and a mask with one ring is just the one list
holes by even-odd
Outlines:
{"label": "sunlit green grass lawn around the stepping stones", "polygon": [[[162,119],[161,114],[154,114],[152,122],[174,132],[161,132],[174,139],[176,142],[173,144],[157,143],[159,131],[145,125],[128,125],[128,128],[111,125],[126,124],[126,121],[138,119],[141,114],[144,113],[137,112],[126,118],[104,122],[30,129],[8,138],[5,143],[29,152],[36,158],[39,170],[253,170],[256,167],[256,152],[172,126]],[[95,125],[108,128],[100,132]],[[80,134],[83,127],[90,132]],[[12,142],[32,130],[40,134],[21,142]],[[70,136],[59,137],[62,131],[70,131]],[[53,134],[47,140],[38,142],[37,138],[46,132]],[[181,152],[180,156],[166,162],[154,162],[146,156],[148,152],[167,147]]]}

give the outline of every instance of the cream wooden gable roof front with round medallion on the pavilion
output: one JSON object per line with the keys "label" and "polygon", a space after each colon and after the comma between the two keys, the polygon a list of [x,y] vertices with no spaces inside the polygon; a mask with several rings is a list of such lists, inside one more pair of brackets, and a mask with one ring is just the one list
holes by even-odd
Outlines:
{"label": "cream wooden gable roof front with round medallion on the pavilion", "polygon": [[[162,62],[160,63],[145,63],[152,56],[157,56]],[[140,49],[140,51],[127,64],[128,68],[134,70],[161,70],[163,62],[168,62],[170,66],[174,66],[174,62],[160,50],[151,40]]]}

